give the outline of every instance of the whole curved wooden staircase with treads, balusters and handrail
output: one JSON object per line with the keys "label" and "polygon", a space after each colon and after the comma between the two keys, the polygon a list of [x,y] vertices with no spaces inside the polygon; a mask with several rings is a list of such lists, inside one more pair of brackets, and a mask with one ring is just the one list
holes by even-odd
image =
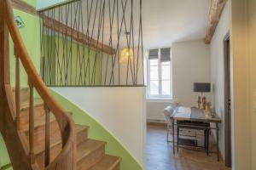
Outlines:
{"label": "whole curved wooden staircase with treads, balusters and handrail", "polygon": [[[15,44],[15,88],[10,85],[9,34]],[[29,88],[20,88],[20,63]],[[75,125],[49,93],[27,54],[10,0],[0,0],[0,101],[0,130],[14,169],[119,169],[120,158],[105,154],[105,142],[88,139],[89,127]]]}

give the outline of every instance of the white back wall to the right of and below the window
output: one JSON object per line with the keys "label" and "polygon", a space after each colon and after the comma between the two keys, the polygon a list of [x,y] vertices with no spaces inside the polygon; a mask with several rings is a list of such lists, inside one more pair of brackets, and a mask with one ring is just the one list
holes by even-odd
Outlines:
{"label": "white back wall to the right of and below the window", "polygon": [[[147,118],[163,120],[167,105],[196,106],[198,93],[194,82],[210,82],[210,48],[203,40],[172,44],[172,100],[147,101]],[[209,94],[204,94],[209,98]]]}

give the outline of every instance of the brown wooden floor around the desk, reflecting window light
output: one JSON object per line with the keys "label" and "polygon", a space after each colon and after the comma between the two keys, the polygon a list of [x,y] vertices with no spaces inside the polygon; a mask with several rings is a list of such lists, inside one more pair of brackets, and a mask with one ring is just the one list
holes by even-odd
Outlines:
{"label": "brown wooden floor around the desk, reflecting window light", "polygon": [[174,156],[172,143],[166,142],[166,127],[148,125],[147,132],[147,170],[230,170],[214,153],[207,156],[205,152],[180,149]]}

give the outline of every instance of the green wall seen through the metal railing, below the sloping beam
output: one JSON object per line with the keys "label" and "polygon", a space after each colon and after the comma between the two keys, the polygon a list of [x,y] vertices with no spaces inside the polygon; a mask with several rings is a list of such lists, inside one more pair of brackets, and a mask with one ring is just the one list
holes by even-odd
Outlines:
{"label": "green wall seen through the metal railing, below the sloping beam", "polygon": [[[83,44],[61,36],[45,35],[43,42],[44,74],[47,85],[63,86],[65,79],[68,86],[82,85],[84,81],[86,85],[90,83],[100,85],[101,54],[98,51],[84,48]],[[89,60],[87,56],[90,56]],[[88,67],[87,63],[90,63]],[[94,65],[96,65],[95,73]]]}

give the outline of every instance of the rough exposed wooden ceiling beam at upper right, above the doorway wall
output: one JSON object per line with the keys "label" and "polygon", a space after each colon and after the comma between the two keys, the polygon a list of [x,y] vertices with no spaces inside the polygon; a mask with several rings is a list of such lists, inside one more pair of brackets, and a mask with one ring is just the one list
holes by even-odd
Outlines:
{"label": "rough exposed wooden ceiling beam at upper right, above the doorway wall", "polygon": [[218,20],[220,19],[220,16],[226,3],[227,0],[211,0],[207,35],[205,38],[206,43],[210,43],[212,41],[212,36],[214,35],[216,27],[218,26]]}

